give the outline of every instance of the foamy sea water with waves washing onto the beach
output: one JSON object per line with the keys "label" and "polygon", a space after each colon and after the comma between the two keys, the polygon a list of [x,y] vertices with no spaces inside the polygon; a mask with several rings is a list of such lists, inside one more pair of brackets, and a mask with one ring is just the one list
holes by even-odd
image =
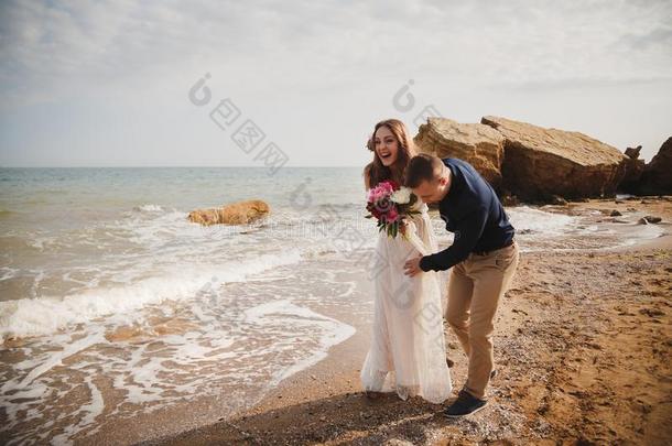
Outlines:
{"label": "foamy sea water with waves washing onto the beach", "polygon": [[[356,330],[327,307],[372,314],[365,195],[361,167],[0,168],[0,439],[86,442],[204,396],[227,416],[324,359]],[[247,199],[270,215],[187,219]],[[636,211],[506,210],[523,254],[661,233]]]}

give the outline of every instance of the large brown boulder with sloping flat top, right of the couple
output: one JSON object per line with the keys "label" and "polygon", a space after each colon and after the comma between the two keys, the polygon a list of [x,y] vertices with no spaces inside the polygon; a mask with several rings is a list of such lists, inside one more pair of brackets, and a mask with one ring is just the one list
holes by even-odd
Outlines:
{"label": "large brown boulder with sloping flat top, right of the couple", "polygon": [[503,186],[523,199],[609,196],[625,175],[626,155],[583,133],[490,116],[480,122],[505,137]]}

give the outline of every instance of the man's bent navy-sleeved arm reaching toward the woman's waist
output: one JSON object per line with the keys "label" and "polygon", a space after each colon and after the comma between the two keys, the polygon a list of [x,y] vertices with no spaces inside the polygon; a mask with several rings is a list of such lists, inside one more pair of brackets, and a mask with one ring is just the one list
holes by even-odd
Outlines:
{"label": "man's bent navy-sleeved arm reaching toward the woman's waist", "polygon": [[457,226],[453,244],[443,251],[420,259],[422,271],[445,271],[462,262],[478,242],[488,220],[488,209],[479,205],[472,210]]}

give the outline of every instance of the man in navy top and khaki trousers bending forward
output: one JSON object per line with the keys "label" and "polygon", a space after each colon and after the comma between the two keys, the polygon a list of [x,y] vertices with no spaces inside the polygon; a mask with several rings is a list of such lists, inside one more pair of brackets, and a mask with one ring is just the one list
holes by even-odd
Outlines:
{"label": "man in navy top and khaki trousers bending forward", "polygon": [[405,262],[407,275],[452,268],[446,320],[469,357],[467,382],[445,414],[474,413],[487,404],[492,369],[495,313],[519,260],[514,229],[492,187],[468,163],[429,154],[413,156],[405,186],[425,203],[438,203],[447,249]]}

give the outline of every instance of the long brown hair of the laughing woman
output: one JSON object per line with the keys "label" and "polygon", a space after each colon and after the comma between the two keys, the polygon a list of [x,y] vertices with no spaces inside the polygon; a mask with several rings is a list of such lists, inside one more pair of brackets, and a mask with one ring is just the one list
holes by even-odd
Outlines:
{"label": "long brown hair of the laughing woman", "polygon": [[[401,172],[400,178],[392,177],[392,172],[390,171],[390,167],[387,167],[384,164],[382,164],[382,161],[380,161],[378,153],[376,153],[376,132],[381,126],[387,127],[390,132],[392,132],[392,135],[394,137],[394,139],[397,140],[397,144],[399,145],[397,161],[394,161],[394,164],[400,167],[398,168],[398,172]],[[371,137],[367,141],[367,149],[373,152],[373,161],[367,164],[364,170],[364,174],[368,175],[369,185],[371,187],[386,180],[394,180],[399,184],[403,184],[405,180],[405,170],[409,165],[409,162],[418,153],[415,144],[413,143],[413,139],[409,134],[409,130],[399,119],[386,119],[383,121],[378,122],[373,128],[373,133],[371,133]]]}

